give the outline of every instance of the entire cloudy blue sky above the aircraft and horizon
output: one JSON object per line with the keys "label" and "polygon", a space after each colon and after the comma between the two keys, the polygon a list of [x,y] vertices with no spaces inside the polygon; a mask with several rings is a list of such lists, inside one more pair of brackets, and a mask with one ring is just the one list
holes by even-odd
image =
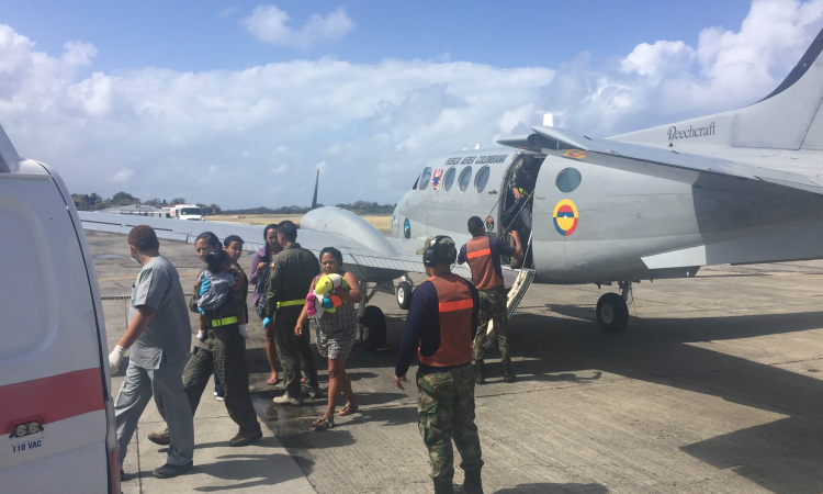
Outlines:
{"label": "entire cloudy blue sky above the aircraft and horizon", "polygon": [[[823,0],[0,3],[0,124],[74,192],[396,202],[436,155],[749,104]],[[335,187],[330,187],[330,184]],[[324,189],[323,184],[329,184]]]}

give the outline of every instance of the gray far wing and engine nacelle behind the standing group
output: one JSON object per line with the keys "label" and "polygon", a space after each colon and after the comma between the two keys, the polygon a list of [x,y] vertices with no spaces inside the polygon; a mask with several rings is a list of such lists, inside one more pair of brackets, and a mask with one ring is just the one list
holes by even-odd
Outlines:
{"label": "gray far wing and engine nacelle behind the standing group", "polygon": [[[136,225],[149,225],[159,238],[193,244],[198,235],[213,232],[223,239],[239,235],[244,249],[255,251],[263,247],[263,225],[222,222],[195,222],[173,218],[78,212],[84,229],[127,235]],[[372,225],[350,211],[320,207],[301,220],[297,243],[319,257],[324,247],[336,247],[343,255],[343,267],[358,278],[369,281],[391,281],[406,272],[425,272],[421,257],[415,251],[421,238],[383,236]],[[454,266],[453,272],[471,278],[467,266]]]}

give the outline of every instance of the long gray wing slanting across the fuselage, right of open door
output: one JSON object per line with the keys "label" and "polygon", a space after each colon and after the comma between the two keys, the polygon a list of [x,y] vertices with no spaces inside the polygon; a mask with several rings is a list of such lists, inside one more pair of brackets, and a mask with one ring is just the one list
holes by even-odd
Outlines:
{"label": "long gray wing slanting across the fuselage, right of open door", "polygon": [[[589,154],[587,157],[590,157],[590,161],[596,165],[701,187],[745,190],[746,188],[778,186],[823,194],[823,178],[820,177],[743,165],[674,149],[595,139],[563,128],[542,125],[532,128],[535,134],[501,139],[500,143],[544,154],[560,153],[560,149],[580,149]],[[734,183],[734,180],[729,179],[739,180]]]}

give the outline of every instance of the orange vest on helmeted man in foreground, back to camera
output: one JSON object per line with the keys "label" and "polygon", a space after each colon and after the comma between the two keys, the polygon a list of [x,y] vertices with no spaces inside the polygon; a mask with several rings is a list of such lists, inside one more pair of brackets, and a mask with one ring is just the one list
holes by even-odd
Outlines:
{"label": "orange vest on helmeted man in foreground, back to camera", "polygon": [[440,304],[440,348],[425,357],[418,347],[420,363],[432,367],[462,366],[472,361],[472,311],[474,299],[469,283],[456,274],[431,277]]}

